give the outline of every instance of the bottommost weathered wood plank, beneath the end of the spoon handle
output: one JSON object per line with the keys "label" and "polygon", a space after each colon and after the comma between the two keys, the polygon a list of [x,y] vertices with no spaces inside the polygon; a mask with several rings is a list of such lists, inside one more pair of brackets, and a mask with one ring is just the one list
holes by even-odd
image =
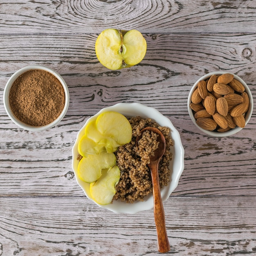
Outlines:
{"label": "bottommost weathered wood plank, beneath the end of the spoon handle", "polygon": [[[254,197],[164,203],[173,255],[253,255]],[[155,255],[153,210],[115,214],[83,197],[0,198],[0,255]],[[164,254],[163,254],[164,255]]]}

